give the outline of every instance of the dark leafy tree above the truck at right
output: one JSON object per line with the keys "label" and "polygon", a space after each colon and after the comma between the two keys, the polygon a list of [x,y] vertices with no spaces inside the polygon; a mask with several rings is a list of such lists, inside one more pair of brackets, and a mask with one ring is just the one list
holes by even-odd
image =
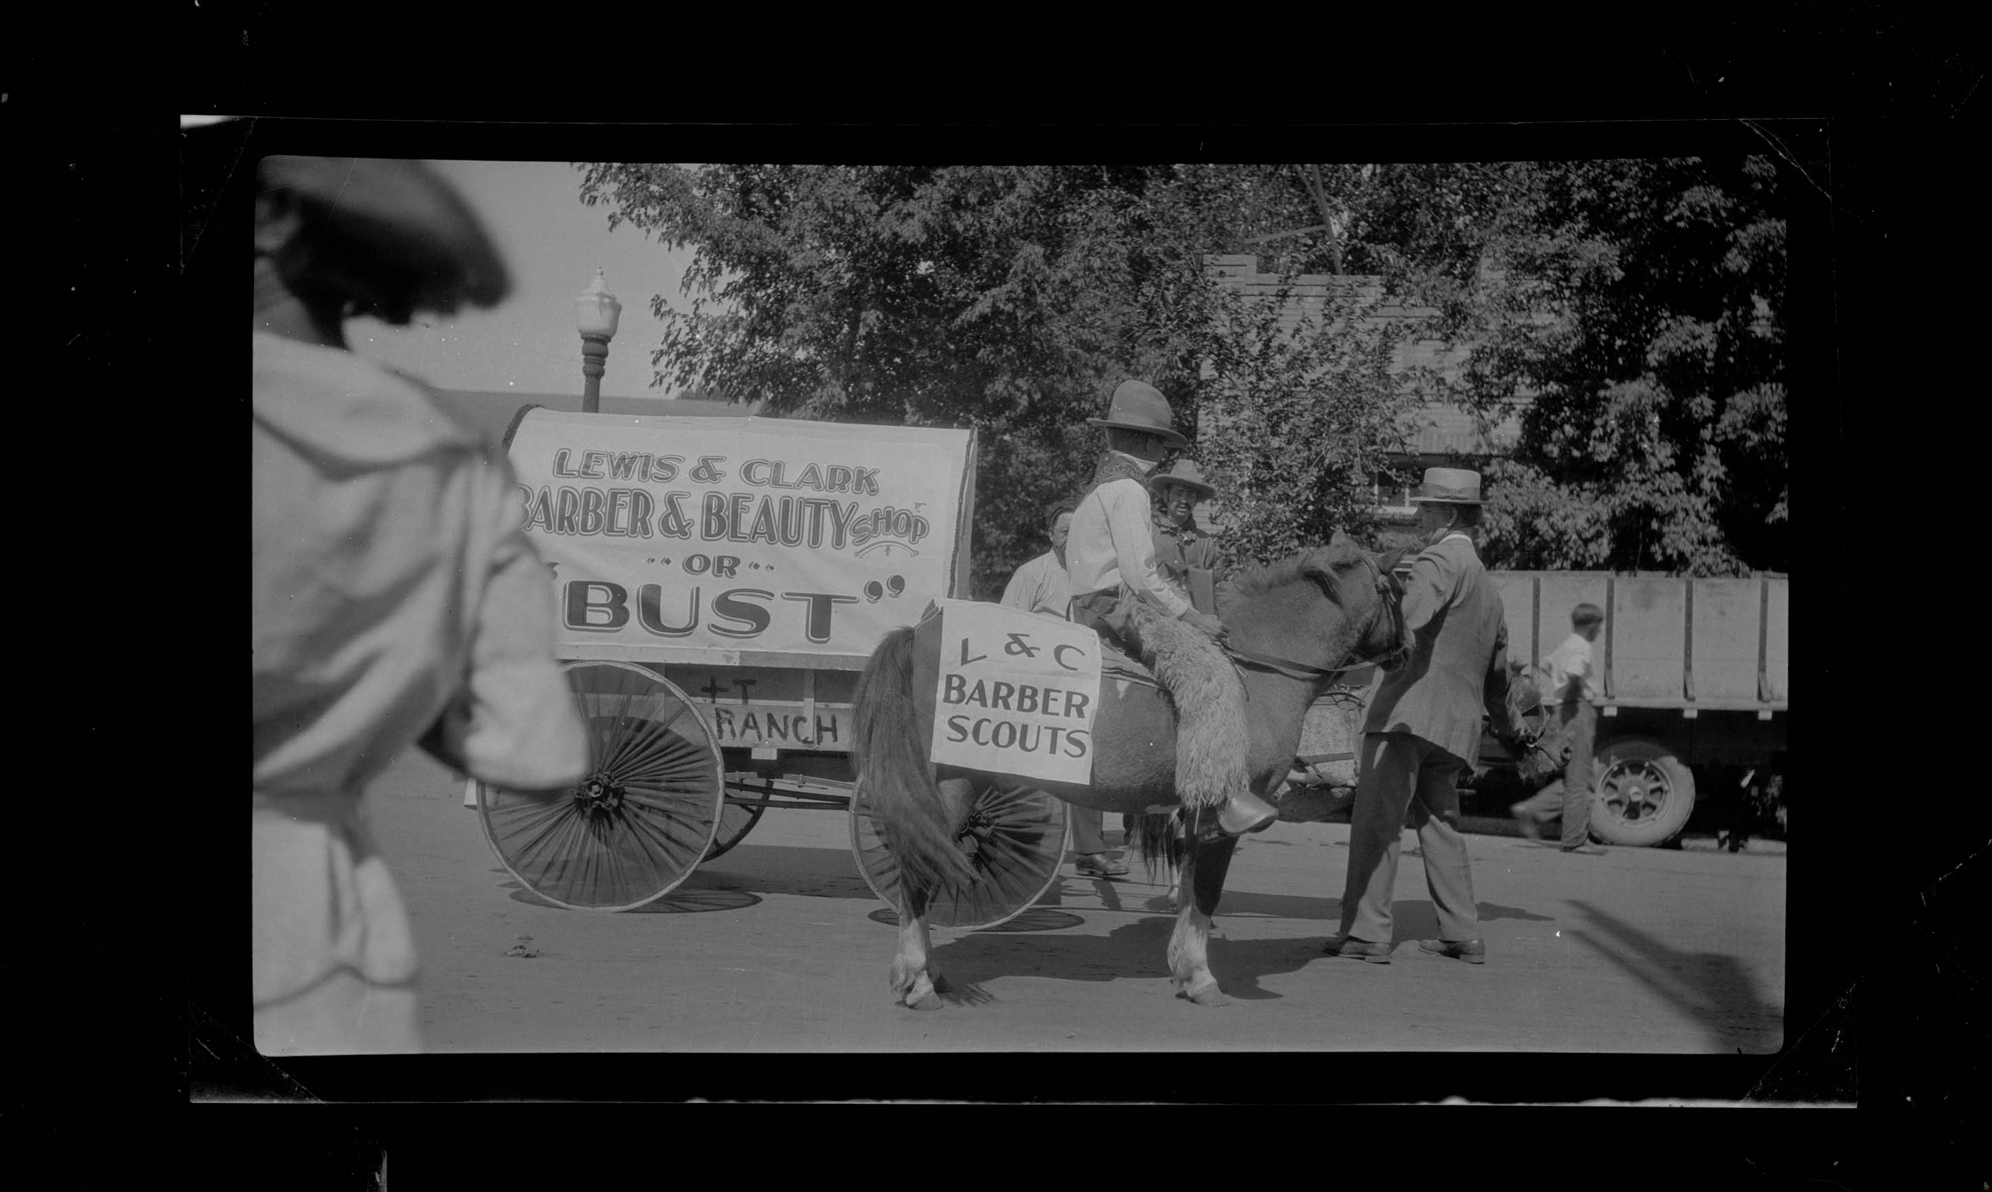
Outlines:
{"label": "dark leafy tree above the truck at right", "polygon": [[[1637,159],[1384,167],[1353,257],[1438,309],[1420,377],[1522,441],[1488,466],[1488,558],[1789,566],[1777,169]],[[1532,399],[1532,401],[1522,401]]]}

